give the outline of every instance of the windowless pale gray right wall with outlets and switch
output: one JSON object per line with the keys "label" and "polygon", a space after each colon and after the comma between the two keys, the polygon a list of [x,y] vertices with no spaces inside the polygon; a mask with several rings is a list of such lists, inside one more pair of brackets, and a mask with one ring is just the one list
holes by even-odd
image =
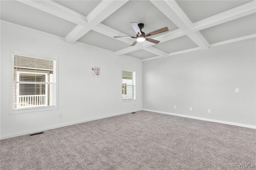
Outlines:
{"label": "windowless pale gray right wall with outlets and switch", "polygon": [[145,61],[143,109],[255,126],[255,58],[252,38]]}

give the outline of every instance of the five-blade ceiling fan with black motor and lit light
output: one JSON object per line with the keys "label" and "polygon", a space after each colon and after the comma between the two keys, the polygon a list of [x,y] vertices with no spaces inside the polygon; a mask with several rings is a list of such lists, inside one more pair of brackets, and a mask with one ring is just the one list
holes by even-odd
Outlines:
{"label": "five-blade ceiling fan with black motor and lit light", "polygon": [[151,38],[148,38],[149,36],[153,36],[156,34],[160,34],[162,32],[169,31],[168,27],[161,28],[159,30],[155,30],[153,32],[150,32],[148,34],[145,34],[144,32],[141,31],[142,28],[144,28],[144,24],[140,23],[137,24],[137,22],[131,22],[132,28],[136,32],[136,37],[131,37],[131,36],[114,36],[114,38],[136,38],[136,41],[132,43],[130,46],[134,46],[137,42],[144,42],[145,40],[148,42],[152,43],[160,43],[158,40],[153,40]]}

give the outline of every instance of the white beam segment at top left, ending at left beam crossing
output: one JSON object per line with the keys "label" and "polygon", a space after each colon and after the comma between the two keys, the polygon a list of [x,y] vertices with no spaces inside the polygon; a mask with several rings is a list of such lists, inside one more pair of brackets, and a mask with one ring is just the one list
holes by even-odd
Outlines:
{"label": "white beam segment at top left, ending at left beam crossing", "polygon": [[18,0],[18,1],[28,6],[37,8],[38,10],[42,10],[54,16],[58,16],[64,20],[73,22],[75,24],[79,24],[83,26],[87,25],[86,16],[83,16],[82,14],[79,14],[78,12],[70,10],[69,8],[66,8],[51,0]]}

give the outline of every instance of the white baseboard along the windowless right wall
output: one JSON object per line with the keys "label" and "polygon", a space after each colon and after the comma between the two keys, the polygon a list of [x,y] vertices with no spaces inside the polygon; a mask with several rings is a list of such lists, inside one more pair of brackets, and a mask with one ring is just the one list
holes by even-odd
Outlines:
{"label": "white baseboard along the windowless right wall", "polygon": [[186,118],[190,118],[190,119],[198,119],[198,120],[202,120],[202,121],[216,122],[216,123],[222,123],[222,124],[227,124],[227,125],[235,125],[235,126],[239,126],[239,127],[246,127],[246,128],[256,129],[256,126],[253,126],[253,125],[246,125],[246,124],[241,124],[241,123],[219,121],[219,120],[215,120],[215,119],[208,119],[208,118],[202,118],[202,117],[194,117],[194,116],[181,115],[181,114],[177,114],[177,113],[169,113],[169,112],[162,112],[162,111],[154,111],[154,110],[149,110],[149,109],[142,109],[142,110],[143,111],[149,111],[149,112],[163,113],[163,114],[166,114],[166,115],[186,117]]}

